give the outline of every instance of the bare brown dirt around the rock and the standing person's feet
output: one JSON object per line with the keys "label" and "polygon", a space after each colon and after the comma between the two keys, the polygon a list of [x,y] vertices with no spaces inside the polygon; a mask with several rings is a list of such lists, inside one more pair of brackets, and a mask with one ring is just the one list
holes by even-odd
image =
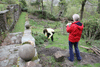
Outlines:
{"label": "bare brown dirt around the rock and the standing person's feet", "polygon": [[[47,43],[46,43],[47,44]],[[81,61],[77,61],[75,53],[74,53],[74,61],[70,62],[67,57],[69,57],[69,51],[68,50],[62,50],[58,47],[51,47],[51,48],[45,48],[45,47],[37,47],[40,64],[42,64],[43,67],[76,67],[75,63],[80,65],[86,65],[94,63],[100,63],[100,57],[96,54],[89,54],[80,52],[80,55],[82,57]],[[54,53],[57,51],[62,51],[66,54],[65,60],[63,62],[56,62],[54,59]]]}

